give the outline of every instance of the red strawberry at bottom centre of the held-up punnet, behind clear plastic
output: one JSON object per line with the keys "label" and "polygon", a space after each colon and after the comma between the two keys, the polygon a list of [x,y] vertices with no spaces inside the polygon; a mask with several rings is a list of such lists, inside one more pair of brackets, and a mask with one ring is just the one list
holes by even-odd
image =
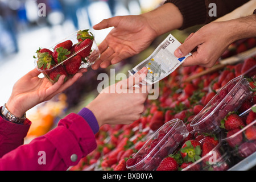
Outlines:
{"label": "red strawberry at bottom centre of the held-up punnet, behind clear plastic", "polygon": [[81,56],[76,55],[64,62],[65,69],[69,75],[75,75],[81,66]]}

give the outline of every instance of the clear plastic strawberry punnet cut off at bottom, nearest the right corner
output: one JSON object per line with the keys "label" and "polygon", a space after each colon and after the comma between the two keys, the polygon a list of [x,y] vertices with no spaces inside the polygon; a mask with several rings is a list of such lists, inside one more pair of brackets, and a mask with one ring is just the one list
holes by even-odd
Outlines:
{"label": "clear plastic strawberry punnet cut off at bottom, nearest the right corner", "polygon": [[[222,138],[224,133],[218,133],[218,144],[196,162],[182,169],[182,171],[226,171],[233,166],[232,155]],[[203,143],[200,140],[199,143]]]}

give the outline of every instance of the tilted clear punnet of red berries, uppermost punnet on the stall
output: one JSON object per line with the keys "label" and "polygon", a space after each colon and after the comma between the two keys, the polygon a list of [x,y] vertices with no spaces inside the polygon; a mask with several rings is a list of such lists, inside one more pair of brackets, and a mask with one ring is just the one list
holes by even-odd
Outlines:
{"label": "tilted clear punnet of red berries, uppermost punnet on the stall", "polygon": [[220,121],[229,111],[237,111],[251,93],[249,82],[243,76],[229,81],[191,122],[199,133],[219,133]]}

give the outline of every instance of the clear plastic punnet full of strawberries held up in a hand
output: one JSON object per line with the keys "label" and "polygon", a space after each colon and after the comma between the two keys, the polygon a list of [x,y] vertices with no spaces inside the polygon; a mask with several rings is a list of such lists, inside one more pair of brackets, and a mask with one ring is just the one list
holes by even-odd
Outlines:
{"label": "clear plastic punnet full of strawberries held up in a hand", "polygon": [[100,57],[94,37],[88,29],[79,30],[50,48],[39,48],[34,56],[36,68],[52,84],[61,75],[67,81],[77,72],[84,72]]}

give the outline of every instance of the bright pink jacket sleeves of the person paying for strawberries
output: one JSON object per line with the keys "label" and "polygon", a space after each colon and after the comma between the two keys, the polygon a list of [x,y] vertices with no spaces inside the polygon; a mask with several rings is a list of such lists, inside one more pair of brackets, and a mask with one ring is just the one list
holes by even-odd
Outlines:
{"label": "bright pink jacket sleeves of the person paying for strawberries", "polygon": [[0,155],[5,154],[0,170],[67,170],[97,147],[89,124],[74,113],[46,135],[23,144],[29,126],[30,121],[16,125],[0,117]]}

